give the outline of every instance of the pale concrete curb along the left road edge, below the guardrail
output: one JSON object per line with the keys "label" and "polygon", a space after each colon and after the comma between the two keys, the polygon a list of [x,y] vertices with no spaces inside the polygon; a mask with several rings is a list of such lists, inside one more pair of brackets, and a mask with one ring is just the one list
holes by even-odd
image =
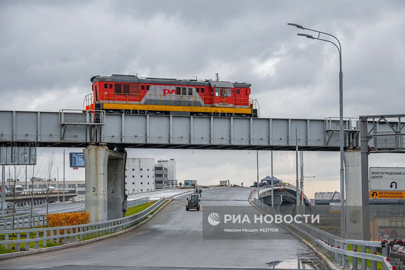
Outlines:
{"label": "pale concrete curb along the left road edge, below the guardrail", "polygon": [[115,232],[115,233],[112,233],[112,234],[100,236],[100,237],[89,239],[89,240],[83,240],[83,241],[79,241],[79,242],[75,242],[75,243],[69,243],[69,244],[62,244],[60,246],[55,246],[55,247],[45,247],[45,248],[34,249],[34,250],[4,253],[4,254],[0,254],[0,260],[2,260],[2,259],[10,259],[10,258],[14,258],[14,257],[20,257],[20,256],[25,256],[25,255],[31,255],[31,254],[36,254],[36,253],[43,253],[43,252],[47,252],[47,251],[54,251],[54,250],[58,250],[58,249],[67,249],[69,247],[81,246],[83,244],[89,244],[89,243],[92,243],[92,242],[96,242],[96,241],[99,241],[99,240],[103,240],[103,239],[107,239],[107,238],[110,238],[110,237],[113,237],[113,236],[124,234],[124,233],[132,231],[135,228],[137,228],[137,227],[143,225],[144,223],[146,223],[154,215],[156,215],[160,211],[160,209],[162,209],[164,206],[166,206],[166,204],[168,204],[172,200],[173,199],[169,199],[167,202],[162,204],[162,206],[160,206],[160,208],[158,210],[156,210],[155,213],[153,213],[152,215],[149,215],[146,220],[144,220],[141,223],[136,224],[135,226],[130,227],[130,228],[126,229],[126,230],[122,230],[122,231],[119,231],[119,232]]}

